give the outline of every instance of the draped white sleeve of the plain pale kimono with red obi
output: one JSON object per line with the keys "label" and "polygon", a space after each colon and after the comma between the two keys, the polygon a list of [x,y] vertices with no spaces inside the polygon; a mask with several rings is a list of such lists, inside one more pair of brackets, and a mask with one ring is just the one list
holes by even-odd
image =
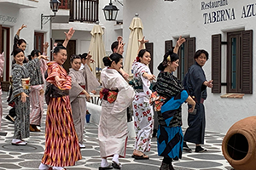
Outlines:
{"label": "draped white sleeve of the plain pale kimono with red obi", "polygon": [[119,93],[111,111],[113,115],[125,111],[131,105],[135,94],[133,88],[120,75],[115,79],[115,83],[118,85]]}

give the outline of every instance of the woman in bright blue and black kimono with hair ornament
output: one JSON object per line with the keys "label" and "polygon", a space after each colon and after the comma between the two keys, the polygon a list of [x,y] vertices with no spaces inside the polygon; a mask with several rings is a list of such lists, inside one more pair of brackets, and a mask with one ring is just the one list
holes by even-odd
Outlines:
{"label": "woman in bright blue and black kimono with hair ornament", "polygon": [[160,71],[152,94],[154,110],[158,113],[159,129],[157,145],[159,156],[164,156],[160,170],[174,170],[172,159],[182,156],[183,131],[181,105],[187,101],[194,111],[195,101],[183,89],[183,84],[174,77],[172,72],[177,70],[178,56],[169,50],[163,62],[158,66]]}

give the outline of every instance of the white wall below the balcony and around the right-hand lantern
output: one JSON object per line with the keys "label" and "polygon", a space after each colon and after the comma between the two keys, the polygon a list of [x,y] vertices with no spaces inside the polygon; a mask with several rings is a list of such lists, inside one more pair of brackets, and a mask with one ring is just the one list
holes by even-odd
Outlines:
{"label": "white wall below the balcony and around the right-hand lantern", "polygon": [[[122,1],[120,1],[122,2]],[[118,36],[122,36],[122,26],[116,26],[116,21],[107,21],[104,18],[104,14],[102,8],[108,5],[109,0],[101,0],[99,1],[99,22],[100,26],[104,31],[103,34],[103,42],[105,44],[105,50],[107,54],[111,54],[111,44],[114,42]],[[123,17],[123,7],[113,1],[113,5],[119,8],[119,14],[117,20],[122,20]],[[92,30],[94,23],[86,23],[86,22],[69,22],[69,23],[53,23],[53,40],[55,39],[64,39],[65,35],[63,31],[68,31],[69,28],[73,27],[75,33],[72,37],[72,40],[77,41],[77,54],[87,53],[90,46],[90,31]]]}

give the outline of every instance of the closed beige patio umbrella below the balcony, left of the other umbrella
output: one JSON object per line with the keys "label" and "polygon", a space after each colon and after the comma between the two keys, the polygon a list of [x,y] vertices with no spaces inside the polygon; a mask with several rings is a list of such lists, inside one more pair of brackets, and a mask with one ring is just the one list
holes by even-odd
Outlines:
{"label": "closed beige patio umbrella below the balcony, left of the other umbrella", "polygon": [[89,51],[92,56],[92,59],[95,60],[95,63],[91,65],[91,68],[93,74],[96,75],[97,72],[102,71],[102,69],[104,68],[102,59],[106,56],[104,43],[102,41],[102,35],[104,34],[102,26],[96,23],[92,31],[90,31],[90,34],[91,40]]}

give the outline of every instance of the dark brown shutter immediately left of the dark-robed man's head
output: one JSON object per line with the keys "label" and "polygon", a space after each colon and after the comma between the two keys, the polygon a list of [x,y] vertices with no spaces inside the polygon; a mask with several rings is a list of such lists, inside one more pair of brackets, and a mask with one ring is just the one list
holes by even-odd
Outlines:
{"label": "dark brown shutter immediately left of the dark-robed man's head", "polygon": [[184,72],[186,73],[189,70],[189,67],[191,65],[194,65],[195,59],[195,37],[189,37],[186,38],[186,43],[187,43],[187,50],[185,50],[185,68]]}

